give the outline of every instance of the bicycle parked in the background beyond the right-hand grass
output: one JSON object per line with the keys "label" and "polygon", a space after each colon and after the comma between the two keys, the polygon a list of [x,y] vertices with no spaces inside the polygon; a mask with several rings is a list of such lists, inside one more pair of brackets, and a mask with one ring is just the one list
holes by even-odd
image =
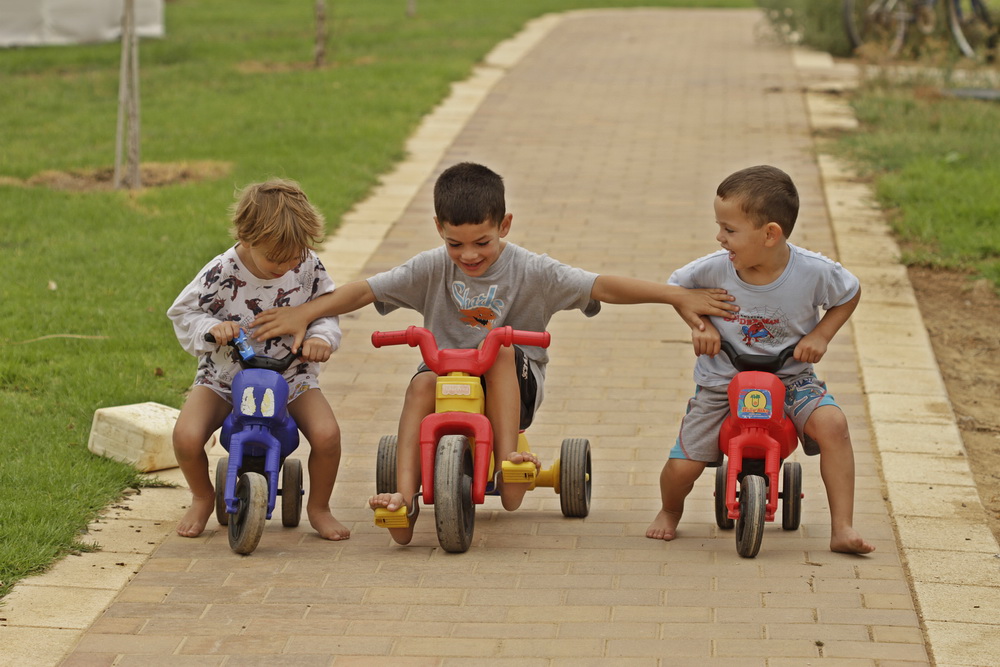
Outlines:
{"label": "bicycle parked in the background beyond the right-hand grass", "polygon": [[917,34],[924,39],[947,23],[963,56],[992,61],[997,30],[985,0],[843,0],[844,28],[855,51],[894,58]]}

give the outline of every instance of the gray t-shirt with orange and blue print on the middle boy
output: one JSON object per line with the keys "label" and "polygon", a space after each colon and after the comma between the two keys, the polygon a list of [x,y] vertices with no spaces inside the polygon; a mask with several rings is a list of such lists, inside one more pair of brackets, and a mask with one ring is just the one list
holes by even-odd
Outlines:
{"label": "gray t-shirt with orange and blue print on the middle boy", "polygon": [[[470,349],[496,327],[545,331],[560,310],[579,309],[593,317],[601,309],[590,298],[596,279],[596,273],[508,242],[482,276],[465,275],[442,245],[372,276],[368,285],[379,313],[410,308],[423,315],[423,326],[438,347]],[[524,352],[533,362],[540,403],[549,357],[540,347],[525,347]]]}

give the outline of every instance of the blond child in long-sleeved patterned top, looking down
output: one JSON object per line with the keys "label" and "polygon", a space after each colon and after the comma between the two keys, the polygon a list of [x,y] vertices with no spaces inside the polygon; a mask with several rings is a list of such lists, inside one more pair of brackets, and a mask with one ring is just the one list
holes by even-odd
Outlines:
{"label": "blond child in long-sleeved patterned top, looking down", "polygon": [[[314,252],[325,220],[293,181],[273,179],[247,186],[231,209],[236,244],[198,273],[167,311],[181,346],[198,357],[198,373],[174,426],[177,463],[191,489],[191,507],[177,526],[182,537],[205,530],[215,508],[204,444],[232,410],[232,380],[240,367],[227,343],[268,308],[296,306],[333,291],[333,281]],[[211,334],[215,343],[208,343]],[[258,354],[287,347],[289,339],[254,345]],[[300,340],[296,340],[296,349]],[[288,412],[309,441],[306,514],[328,540],[350,531],[330,511],[340,466],[340,427],[319,390],[319,364],[340,345],[336,317],[311,323],[301,345],[301,363],[285,374]]]}

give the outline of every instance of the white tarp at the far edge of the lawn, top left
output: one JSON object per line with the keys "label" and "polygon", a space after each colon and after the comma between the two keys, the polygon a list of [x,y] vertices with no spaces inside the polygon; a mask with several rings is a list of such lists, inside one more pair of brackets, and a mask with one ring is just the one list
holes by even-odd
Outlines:
{"label": "white tarp at the far edge of the lawn, top left", "polygon": [[[0,46],[86,44],[121,38],[125,0],[0,0]],[[163,37],[163,0],[135,0],[140,37]]]}

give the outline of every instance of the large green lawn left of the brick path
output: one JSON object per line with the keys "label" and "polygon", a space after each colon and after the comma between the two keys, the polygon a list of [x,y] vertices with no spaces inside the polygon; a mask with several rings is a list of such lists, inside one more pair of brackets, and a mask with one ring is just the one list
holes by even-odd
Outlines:
{"label": "large green lawn left of the brick path", "polygon": [[[499,41],[541,14],[587,7],[749,7],[750,0],[329,2],[329,66],[312,3],[177,0],[140,46],[143,162],[211,160],[214,180],[139,193],[10,184],[114,162],[119,45],[0,50],[0,597],[143,484],[94,456],[94,411],[178,407],[195,363],[164,313],[230,243],[235,188],[294,178],[331,225],[403,157],[407,136]],[[55,289],[50,289],[50,285]],[[91,338],[49,338],[67,334]]]}

